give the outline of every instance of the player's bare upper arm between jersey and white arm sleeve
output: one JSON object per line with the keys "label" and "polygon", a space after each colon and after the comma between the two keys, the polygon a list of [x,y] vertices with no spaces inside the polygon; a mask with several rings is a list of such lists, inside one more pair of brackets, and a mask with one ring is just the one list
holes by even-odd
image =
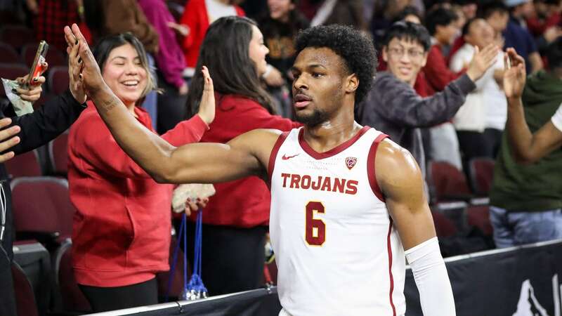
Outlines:
{"label": "player's bare upper arm between jersey and white arm sleeve", "polygon": [[377,149],[374,166],[404,249],[435,237],[424,180],[412,154],[391,140],[384,140]]}

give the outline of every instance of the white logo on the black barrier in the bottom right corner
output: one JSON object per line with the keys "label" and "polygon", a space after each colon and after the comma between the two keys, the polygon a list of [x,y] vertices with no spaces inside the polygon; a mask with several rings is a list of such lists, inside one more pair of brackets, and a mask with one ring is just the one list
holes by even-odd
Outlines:
{"label": "white logo on the black barrier in the bottom right corner", "polygon": [[[558,275],[552,277],[552,296],[554,298],[554,314],[552,316],[561,315],[561,294],[562,286],[558,284]],[[521,284],[521,294],[517,303],[517,310],[513,316],[550,316],[542,305],[540,305],[535,290],[532,288],[529,279],[525,279]]]}

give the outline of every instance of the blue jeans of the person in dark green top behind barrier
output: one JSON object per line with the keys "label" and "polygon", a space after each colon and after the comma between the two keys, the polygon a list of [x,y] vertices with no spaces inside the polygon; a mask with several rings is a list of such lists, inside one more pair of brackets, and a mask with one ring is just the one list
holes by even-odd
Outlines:
{"label": "blue jeans of the person in dark green top behind barrier", "polygon": [[506,211],[490,206],[490,222],[497,248],[562,238],[562,210]]}

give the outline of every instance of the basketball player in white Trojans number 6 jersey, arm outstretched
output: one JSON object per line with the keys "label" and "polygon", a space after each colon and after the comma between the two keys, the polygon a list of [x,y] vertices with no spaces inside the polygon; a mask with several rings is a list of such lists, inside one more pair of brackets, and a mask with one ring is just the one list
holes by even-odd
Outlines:
{"label": "basketball player in white Trojans number 6 jersey, arm outstretched", "polygon": [[[259,32],[257,28],[254,32]],[[423,179],[409,152],[353,119],[369,91],[372,41],[343,26],[307,29],[292,68],[289,133],[254,130],[227,144],[171,146],[133,119],[107,88],[76,25],[84,88],[117,143],[162,183],[262,176],[271,188],[280,315],[404,315],[405,258],[424,315],[455,315]],[[214,103],[206,70],[202,103]],[[406,249],[404,251],[404,249]]]}

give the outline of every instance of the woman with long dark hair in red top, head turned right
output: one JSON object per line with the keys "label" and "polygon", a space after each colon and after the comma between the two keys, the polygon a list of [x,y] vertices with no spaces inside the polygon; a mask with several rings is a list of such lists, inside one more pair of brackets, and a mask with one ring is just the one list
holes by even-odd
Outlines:
{"label": "woman with long dark hair in red top, head turned right", "polygon": [[[268,48],[256,23],[226,17],[209,26],[188,93],[188,112],[199,110],[202,65],[209,67],[216,91],[216,117],[202,142],[227,143],[253,129],[289,131],[299,124],[273,113],[260,77]],[[203,212],[202,279],[209,294],[255,289],[263,275],[270,193],[256,176],[218,183]],[[190,231],[193,231],[191,229]]]}

